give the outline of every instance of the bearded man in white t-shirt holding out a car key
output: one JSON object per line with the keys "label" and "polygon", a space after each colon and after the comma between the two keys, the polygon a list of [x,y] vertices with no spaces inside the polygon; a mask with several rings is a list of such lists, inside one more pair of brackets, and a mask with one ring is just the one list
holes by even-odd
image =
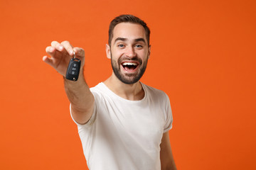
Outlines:
{"label": "bearded man in white t-shirt holding out a car key", "polygon": [[168,132],[169,98],[139,82],[150,55],[149,35],[146,23],[135,16],[114,18],[106,45],[113,72],[91,89],[83,77],[82,48],[68,41],[46,47],[50,57],[43,61],[63,77],[73,52],[81,60],[78,81],[64,83],[89,169],[176,169]]}

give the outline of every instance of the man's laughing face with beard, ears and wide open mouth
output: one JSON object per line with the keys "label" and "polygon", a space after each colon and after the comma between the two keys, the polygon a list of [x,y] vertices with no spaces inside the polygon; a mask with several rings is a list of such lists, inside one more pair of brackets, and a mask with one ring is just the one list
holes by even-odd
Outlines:
{"label": "man's laughing face with beard, ears and wide open mouth", "polygon": [[107,57],[111,58],[113,72],[120,81],[124,84],[139,81],[146,70],[149,54],[143,26],[119,23],[114,27],[111,48],[107,45]]}

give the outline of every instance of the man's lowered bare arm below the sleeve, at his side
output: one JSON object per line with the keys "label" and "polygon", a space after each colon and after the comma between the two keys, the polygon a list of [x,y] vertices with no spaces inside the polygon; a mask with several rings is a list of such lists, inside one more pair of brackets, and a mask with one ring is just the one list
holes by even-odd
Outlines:
{"label": "man's lowered bare arm below the sleeve, at his side", "polygon": [[171,152],[169,132],[165,132],[163,134],[160,148],[161,170],[177,170],[174,157]]}

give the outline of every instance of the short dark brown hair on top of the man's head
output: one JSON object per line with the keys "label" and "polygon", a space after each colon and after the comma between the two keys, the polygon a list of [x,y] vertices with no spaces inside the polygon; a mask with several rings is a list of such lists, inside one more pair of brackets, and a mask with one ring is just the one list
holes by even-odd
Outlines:
{"label": "short dark brown hair on top of the man's head", "polygon": [[113,38],[114,27],[117,26],[118,23],[138,23],[141,26],[143,26],[143,28],[145,29],[145,33],[146,33],[146,40],[149,45],[150,30],[149,30],[149,27],[146,26],[146,23],[144,21],[142,21],[140,18],[138,18],[137,16],[121,15],[121,16],[117,16],[116,18],[114,18],[110,23],[110,28],[109,28],[109,45],[110,46],[111,46],[111,40]]}

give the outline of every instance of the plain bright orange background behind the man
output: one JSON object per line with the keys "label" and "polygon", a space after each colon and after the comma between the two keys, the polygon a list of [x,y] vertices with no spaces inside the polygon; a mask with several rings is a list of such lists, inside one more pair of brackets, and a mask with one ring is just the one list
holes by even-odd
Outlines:
{"label": "plain bright orange background behind the man", "polygon": [[42,61],[52,40],[85,50],[95,86],[115,16],[151,28],[142,81],[169,95],[178,169],[256,169],[256,3],[224,1],[0,1],[0,169],[87,169],[63,78]]}

